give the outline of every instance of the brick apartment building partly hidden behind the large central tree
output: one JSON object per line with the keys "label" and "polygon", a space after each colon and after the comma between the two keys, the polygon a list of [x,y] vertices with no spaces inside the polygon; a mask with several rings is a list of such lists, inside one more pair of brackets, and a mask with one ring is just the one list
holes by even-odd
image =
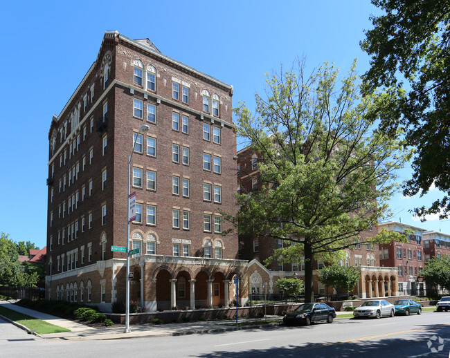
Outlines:
{"label": "brick apartment building partly hidden behind the large central tree", "polygon": [[[261,183],[258,182],[258,153],[251,148],[244,148],[237,153],[237,192],[247,194],[252,190],[258,190]],[[397,294],[397,270],[393,267],[382,267],[380,264],[379,245],[370,243],[370,238],[378,232],[377,227],[370,227],[359,235],[359,243],[345,249],[345,259],[341,265],[356,266],[361,271],[361,279],[354,294],[361,298],[376,296],[395,296]],[[249,289],[251,294],[265,292],[278,292],[275,282],[282,277],[298,277],[304,279],[305,267],[303,263],[278,264],[272,262],[269,267],[262,263],[271,256],[275,249],[285,245],[282,240],[274,238],[260,238],[249,235],[240,235],[240,258],[249,260]],[[332,294],[332,290],[318,282],[318,270],[324,263],[313,263],[314,294],[323,296]]]}

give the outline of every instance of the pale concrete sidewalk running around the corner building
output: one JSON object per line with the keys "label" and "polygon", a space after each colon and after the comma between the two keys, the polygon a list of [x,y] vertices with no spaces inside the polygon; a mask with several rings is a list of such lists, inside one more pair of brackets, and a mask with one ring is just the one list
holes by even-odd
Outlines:
{"label": "pale concrete sidewalk running around the corner building", "polygon": [[[10,310],[15,310],[28,316],[35,317],[37,319],[42,319],[48,323],[52,323],[55,326],[60,326],[71,330],[71,332],[54,333],[51,335],[37,335],[45,339],[64,339],[69,341],[85,341],[85,340],[109,340],[109,339],[127,339],[127,338],[138,338],[138,337],[165,337],[165,336],[179,336],[179,335],[192,335],[199,333],[210,333],[210,332],[226,332],[231,330],[241,330],[246,328],[262,328],[270,326],[278,326],[279,323],[267,323],[260,324],[255,323],[253,326],[244,326],[241,328],[236,328],[233,326],[224,326],[233,324],[234,321],[198,321],[190,323],[169,323],[163,324],[161,326],[148,325],[148,326],[130,326],[131,332],[125,333],[125,328],[120,327],[108,327],[105,329],[91,328],[89,326],[84,326],[80,323],[75,323],[67,319],[61,319],[59,317],[52,316],[51,314],[46,314],[38,312],[35,310],[30,310],[29,308],[24,308],[19,305],[13,305],[7,301],[0,301],[0,304],[5,308]],[[339,315],[348,314],[349,312],[336,312]],[[281,316],[267,316],[267,321],[274,319],[282,321]],[[239,319],[242,321],[262,321],[262,319]],[[27,330],[24,326],[13,322],[15,326]],[[33,333],[35,334],[35,333]]]}

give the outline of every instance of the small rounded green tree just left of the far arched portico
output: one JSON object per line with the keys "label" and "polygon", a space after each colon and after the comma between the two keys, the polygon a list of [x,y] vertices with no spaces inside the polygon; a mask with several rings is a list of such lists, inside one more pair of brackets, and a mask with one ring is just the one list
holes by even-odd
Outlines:
{"label": "small rounded green tree just left of the far arched portico", "polygon": [[360,272],[357,267],[345,267],[339,263],[334,263],[330,266],[323,267],[319,271],[319,279],[327,287],[332,287],[336,290],[339,299],[339,293],[350,293],[357,285],[360,277]]}

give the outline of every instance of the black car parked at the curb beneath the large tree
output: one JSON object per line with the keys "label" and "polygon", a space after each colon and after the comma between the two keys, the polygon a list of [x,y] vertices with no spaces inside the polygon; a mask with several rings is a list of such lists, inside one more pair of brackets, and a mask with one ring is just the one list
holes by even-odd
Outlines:
{"label": "black car parked at the curb beneath the large tree", "polygon": [[303,323],[309,326],[312,322],[327,321],[332,323],[336,318],[336,310],[325,303],[304,303],[283,318],[286,326]]}

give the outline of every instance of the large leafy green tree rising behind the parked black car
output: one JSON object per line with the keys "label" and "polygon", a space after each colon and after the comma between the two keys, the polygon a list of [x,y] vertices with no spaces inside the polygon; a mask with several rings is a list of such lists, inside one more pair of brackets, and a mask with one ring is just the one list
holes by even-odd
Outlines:
{"label": "large leafy green tree rising behind the parked black car", "polygon": [[291,243],[275,251],[278,261],[304,256],[306,302],[314,259],[354,246],[387,213],[395,171],[409,158],[402,142],[374,129],[374,103],[395,95],[361,97],[354,71],[336,88],[333,66],[306,75],[298,62],[296,73],[267,79],[255,115],[244,104],[235,109],[238,135],[262,158],[262,187],[237,196],[239,232]]}

